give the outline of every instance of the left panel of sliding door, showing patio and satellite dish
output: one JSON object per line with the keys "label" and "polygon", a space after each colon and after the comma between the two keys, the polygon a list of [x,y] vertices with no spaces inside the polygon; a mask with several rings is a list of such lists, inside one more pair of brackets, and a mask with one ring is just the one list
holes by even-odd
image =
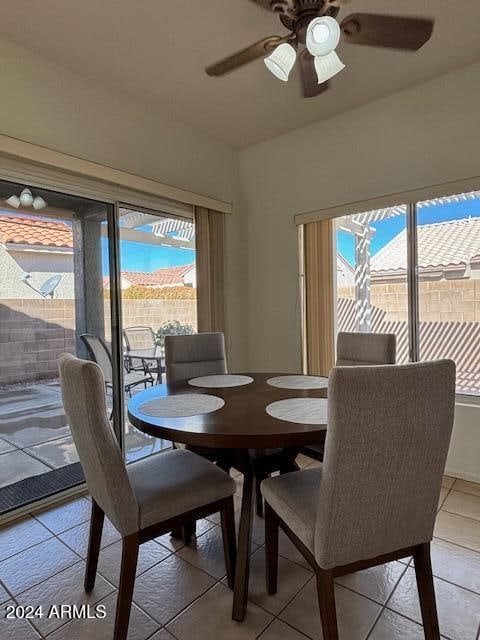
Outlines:
{"label": "left panel of sliding door, showing patio and satellite dish", "polygon": [[108,215],[101,202],[0,182],[0,512],[83,482],[57,359],[88,357],[84,333],[110,334]]}

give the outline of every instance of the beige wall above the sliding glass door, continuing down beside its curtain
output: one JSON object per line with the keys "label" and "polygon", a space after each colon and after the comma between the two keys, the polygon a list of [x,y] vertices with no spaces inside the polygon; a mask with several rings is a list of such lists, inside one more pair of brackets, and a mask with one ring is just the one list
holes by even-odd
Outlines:
{"label": "beige wall above the sliding glass door, continuing down beside its curtain", "polygon": [[5,39],[0,77],[2,134],[234,204],[226,222],[228,341],[230,366],[244,368],[244,289],[237,276],[245,229],[236,152]]}

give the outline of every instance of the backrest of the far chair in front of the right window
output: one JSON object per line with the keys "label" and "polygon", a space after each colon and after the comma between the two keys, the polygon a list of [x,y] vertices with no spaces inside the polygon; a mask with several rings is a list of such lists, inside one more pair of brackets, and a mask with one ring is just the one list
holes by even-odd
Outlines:
{"label": "backrest of the far chair in front of the right window", "polygon": [[347,333],[337,336],[337,367],[395,364],[397,337],[394,333]]}

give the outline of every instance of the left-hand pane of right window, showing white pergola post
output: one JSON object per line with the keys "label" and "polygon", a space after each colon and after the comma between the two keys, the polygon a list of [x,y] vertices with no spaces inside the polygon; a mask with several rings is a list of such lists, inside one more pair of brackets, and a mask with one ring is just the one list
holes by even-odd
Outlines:
{"label": "left-hand pane of right window, showing white pergola post", "polygon": [[337,218],[337,330],[395,333],[409,358],[407,208]]}

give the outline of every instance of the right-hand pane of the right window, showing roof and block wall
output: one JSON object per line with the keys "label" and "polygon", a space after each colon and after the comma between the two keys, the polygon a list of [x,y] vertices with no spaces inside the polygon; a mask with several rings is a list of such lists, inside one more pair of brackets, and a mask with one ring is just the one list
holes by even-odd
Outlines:
{"label": "right-hand pane of the right window, showing roof and block wall", "polygon": [[452,358],[480,395],[480,192],[417,203],[420,359]]}

